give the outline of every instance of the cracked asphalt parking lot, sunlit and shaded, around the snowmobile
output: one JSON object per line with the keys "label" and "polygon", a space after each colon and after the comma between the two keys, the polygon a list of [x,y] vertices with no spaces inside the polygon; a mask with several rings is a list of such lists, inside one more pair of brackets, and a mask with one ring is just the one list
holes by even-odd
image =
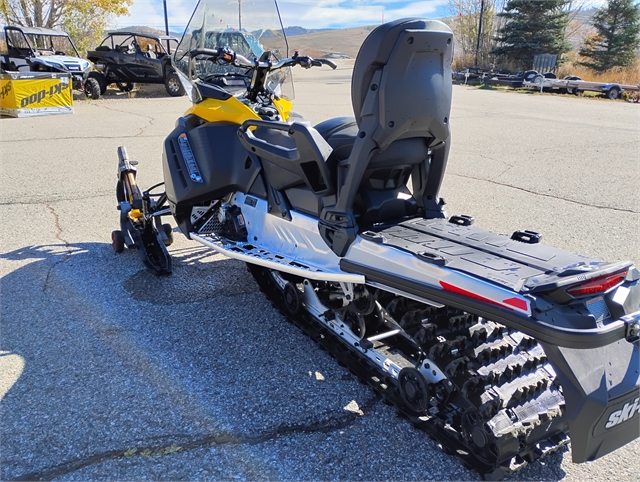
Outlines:
{"label": "cracked asphalt parking lot, sunlit and shaded, around the snowmobile", "polygon": [[[351,64],[294,110],[352,115]],[[188,107],[159,90],[0,120],[0,479],[478,480],[286,323],[240,262],[175,233],[174,273],[115,255],[120,145],[144,188]],[[449,214],[640,263],[640,108],[454,86]],[[637,480],[640,441],[508,480]]]}

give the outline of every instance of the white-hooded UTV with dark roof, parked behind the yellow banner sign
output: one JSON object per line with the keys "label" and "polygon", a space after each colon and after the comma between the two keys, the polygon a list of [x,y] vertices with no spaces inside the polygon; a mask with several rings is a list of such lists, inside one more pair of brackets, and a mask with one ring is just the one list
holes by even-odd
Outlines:
{"label": "white-hooded UTV with dark roof, parked behind the yellow banner sign", "polygon": [[71,74],[74,90],[87,97],[100,97],[98,82],[93,80],[91,63],[80,57],[78,49],[65,32],[42,27],[5,26],[0,42],[3,72],[63,72]]}

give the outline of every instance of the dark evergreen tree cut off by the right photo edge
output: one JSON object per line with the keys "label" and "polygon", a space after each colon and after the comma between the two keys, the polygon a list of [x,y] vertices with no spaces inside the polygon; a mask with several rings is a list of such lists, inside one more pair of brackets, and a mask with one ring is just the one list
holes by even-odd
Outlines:
{"label": "dark evergreen tree cut off by the right photo edge", "polygon": [[597,72],[629,67],[640,47],[640,5],[633,0],[609,0],[593,16],[596,33],[587,37],[580,55],[581,65]]}

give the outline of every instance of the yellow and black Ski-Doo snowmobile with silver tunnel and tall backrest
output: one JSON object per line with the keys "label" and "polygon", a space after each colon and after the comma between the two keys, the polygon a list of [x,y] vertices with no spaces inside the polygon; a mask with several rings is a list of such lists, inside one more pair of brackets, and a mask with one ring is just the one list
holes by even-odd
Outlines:
{"label": "yellow and black Ski-Doo snowmobile with silver tunnel and tall backrest", "polygon": [[187,238],[246,262],[286,317],[487,479],[569,441],[585,462],[636,439],[638,269],[445,213],[451,30],[375,28],[353,68],[355,116],[312,126],[291,112],[290,69],[335,65],[289,57],[267,0],[243,3],[242,28],[268,32],[254,34],[268,49],[213,44],[230,8],[201,1],[175,52],[193,106],[164,142],[165,192],[139,192],[120,152],[114,248],[126,238],[169,273],[157,219],[170,213]]}

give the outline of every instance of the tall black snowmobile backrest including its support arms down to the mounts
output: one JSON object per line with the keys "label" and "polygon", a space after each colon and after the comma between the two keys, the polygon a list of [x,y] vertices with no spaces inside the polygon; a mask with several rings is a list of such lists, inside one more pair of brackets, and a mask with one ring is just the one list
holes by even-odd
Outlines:
{"label": "tall black snowmobile backrest including its support arms down to the mounts", "polygon": [[[319,224],[338,256],[355,239],[354,202],[363,183],[374,179],[384,182],[373,184],[387,185],[384,176],[395,176],[395,166],[402,167],[404,179],[413,170],[413,197],[423,212],[443,215],[437,194],[449,149],[452,58],[453,34],[437,20],[409,18],[380,25],[360,47],[351,79],[358,133],[349,158],[338,165],[336,203],[325,205]],[[416,147],[419,158],[402,154]],[[398,157],[382,160],[380,154],[387,150]],[[422,178],[416,182],[417,175]]]}

